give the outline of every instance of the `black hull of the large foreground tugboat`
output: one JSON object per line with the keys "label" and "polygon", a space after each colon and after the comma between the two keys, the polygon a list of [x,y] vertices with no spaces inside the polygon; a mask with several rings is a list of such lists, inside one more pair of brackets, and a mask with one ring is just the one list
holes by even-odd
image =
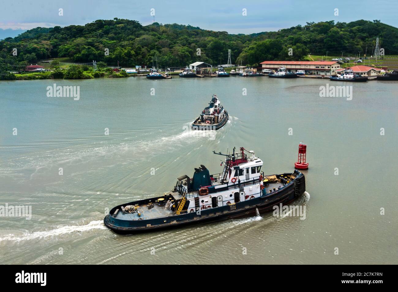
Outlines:
{"label": "black hull of the large foreground tugboat", "polygon": [[284,188],[281,188],[280,190],[277,190],[271,194],[263,195],[252,200],[246,200],[244,202],[238,202],[233,204],[234,207],[232,207],[232,205],[222,206],[218,208],[202,210],[200,214],[192,212],[178,216],[141,221],[136,220],[119,222],[121,220],[117,220],[112,216],[107,215],[103,221],[105,226],[119,234],[137,234],[142,232],[186,227],[233,218],[253,216],[256,214],[256,209],[258,209],[260,214],[271,212],[273,211],[273,206],[279,206],[279,204],[287,205],[300,197],[304,192],[304,174],[299,174],[294,183],[290,185],[288,184]]}

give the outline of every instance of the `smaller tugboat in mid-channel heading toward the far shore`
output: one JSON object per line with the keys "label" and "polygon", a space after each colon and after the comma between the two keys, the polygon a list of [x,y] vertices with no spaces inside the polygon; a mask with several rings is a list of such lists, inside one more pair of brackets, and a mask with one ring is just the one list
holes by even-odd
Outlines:
{"label": "smaller tugboat in mid-channel heading toward the far shore", "polygon": [[209,106],[206,107],[199,118],[192,123],[193,130],[218,130],[228,121],[228,112],[220,104],[217,95],[213,94]]}

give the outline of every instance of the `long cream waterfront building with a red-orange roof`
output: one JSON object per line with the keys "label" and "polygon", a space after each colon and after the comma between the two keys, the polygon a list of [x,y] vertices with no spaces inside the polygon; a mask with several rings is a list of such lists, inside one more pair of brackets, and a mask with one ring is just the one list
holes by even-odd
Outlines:
{"label": "long cream waterfront building with a red-orange roof", "polygon": [[335,75],[336,70],[340,69],[340,64],[335,61],[264,61],[262,69],[277,71],[280,67],[285,67],[287,71],[296,73],[297,70],[304,70],[306,74],[316,75]]}

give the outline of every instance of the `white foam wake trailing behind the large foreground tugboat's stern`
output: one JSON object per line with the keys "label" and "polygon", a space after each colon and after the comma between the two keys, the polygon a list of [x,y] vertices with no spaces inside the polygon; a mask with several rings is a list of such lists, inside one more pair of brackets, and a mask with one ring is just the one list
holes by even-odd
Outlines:
{"label": "white foam wake trailing behind the large foreground tugboat's stern", "polygon": [[30,239],[36,239],[36,238],[46,238],[46,237],[53,237],[57,235],[62,235],[62,234],[67,234],[67,233],[72,233],[75,231],[88,231],[92,229],[107,229],[105,225],[103,224],[102,220],[97,220],[97,221],[91,221],[90,223],[86,225],[74,225],[74,226],[62,226],[57,229],[53,230],[48,230],[48,231],[37,231],[33,233],[25,233],[23,235],[14,235],[14,234],[8,234],[0,237],[0,243],[3,240],[7,241],[23,241],[23,240],[30,240]]}

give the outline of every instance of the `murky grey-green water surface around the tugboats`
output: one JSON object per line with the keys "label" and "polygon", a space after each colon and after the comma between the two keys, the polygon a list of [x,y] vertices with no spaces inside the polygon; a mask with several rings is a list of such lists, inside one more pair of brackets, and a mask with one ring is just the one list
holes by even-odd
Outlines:
{"label": "murky grey-green water surface around the tugboats", "polygon": [[[80,86],[80,100],[47,97],[54,82]],[[2,81],[0,205],[33,215],[0,217],[0,263],[397,264],[398,83],[330,84],[352,85],[347,101],[321,98],[327,82]],[[212,94],[230,120],[213,138],[191,137],[185,129]],[[254,150],[274,174],[293,170],[302,141],[310,169],[295,204],[306,206],[304,220],[265,214],[132,236],[102,223],[106,208],[163,194],[200,164],[220,172],[213,150]]]}

